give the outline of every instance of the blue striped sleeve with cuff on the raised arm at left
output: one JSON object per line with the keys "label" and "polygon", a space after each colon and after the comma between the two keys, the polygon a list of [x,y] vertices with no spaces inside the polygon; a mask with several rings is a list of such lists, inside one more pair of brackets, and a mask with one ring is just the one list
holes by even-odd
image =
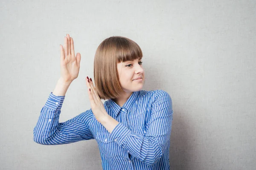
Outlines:
{"label": "blue striped sleeve with cuff on the raised arm at left", "polygon": [[49,95],[33,131],[35,142],[55,145],[94,139],[88,126],[93,114],[91,110],[87,110],[66,122],[59,123],[64,97],[55,96],[52,93]]}

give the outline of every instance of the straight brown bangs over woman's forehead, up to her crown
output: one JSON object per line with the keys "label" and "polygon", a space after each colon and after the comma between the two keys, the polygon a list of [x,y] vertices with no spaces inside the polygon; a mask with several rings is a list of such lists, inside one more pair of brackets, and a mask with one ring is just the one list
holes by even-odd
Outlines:
{"label": "straight brown bangs over woman's forehead, up to her crown", "polygon": [[128,38],[116,37],[116,57],[117,62],[133,61],[134,59],[142,59],[143,53],[140,46]]}

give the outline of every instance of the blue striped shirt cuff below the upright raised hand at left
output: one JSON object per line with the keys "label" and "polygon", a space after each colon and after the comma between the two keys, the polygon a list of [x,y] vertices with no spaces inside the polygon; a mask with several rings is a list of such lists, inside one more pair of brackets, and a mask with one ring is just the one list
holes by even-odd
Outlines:
{"label": "blue striped shirt cuff below the upright raised hand at left", "polygon": [[51,108],[54,110],[61,110],[64,99],[65,99],[65,96],[55,96],[51,92],[47,99],[47,102],[45,103],[45,106],[47,108]]}

